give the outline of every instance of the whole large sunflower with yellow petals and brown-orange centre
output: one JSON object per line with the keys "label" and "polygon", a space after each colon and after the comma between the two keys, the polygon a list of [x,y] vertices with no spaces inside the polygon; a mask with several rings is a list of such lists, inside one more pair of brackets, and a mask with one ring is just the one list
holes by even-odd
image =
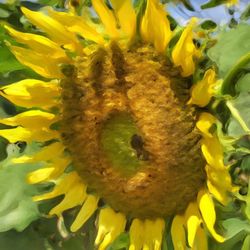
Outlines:
{"label": "whole large sunflower with yellow petals and brown-orange centre", "polygon": [[210,67],[191,87],[203,54],[196,19],[180,33],[159,1],[141,3],[136,12],[130,0],[92,0],[98,18],[73,5],[68,12],[23,7],[39,34],[5,26],[18,44],[9,46],[43,80],[1,88],[24,111],[1,119],[11,127],[0,135],[40,145],[13,160],[39,163],[29,183],[54,184],[34,201],[63,195],[49,212],[58,217],[80,207],[72,232],[97,212],[99,249],[129,230],[130,250],[161,249],[164,232],[175,249],[204,250],[208,235],[225,240],[214,200],[226,205],[236,190],[218,121],[204,109],[220,81]]}

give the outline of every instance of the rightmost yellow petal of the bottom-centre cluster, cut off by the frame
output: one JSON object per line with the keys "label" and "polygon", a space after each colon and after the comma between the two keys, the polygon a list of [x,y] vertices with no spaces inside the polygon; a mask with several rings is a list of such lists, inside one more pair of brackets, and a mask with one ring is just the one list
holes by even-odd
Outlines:
{"label": "rightmost yellow petal of the bottom-centre cluster, cut off by the frame", "polygon": [[145,220],[144,223],[145,234],[144,244],[145,249],[160,250],[162,243],[162,236],[165,229],[165,222],[163,219]]}

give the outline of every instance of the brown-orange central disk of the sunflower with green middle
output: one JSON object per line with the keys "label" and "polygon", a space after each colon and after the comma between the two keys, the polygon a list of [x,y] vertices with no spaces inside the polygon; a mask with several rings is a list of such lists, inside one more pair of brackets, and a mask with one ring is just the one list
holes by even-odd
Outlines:
{"label": "brown-orange central disk of the sunflower with green middle", "polygon": [[205,181],[188,80],[151,47],[115,42],[65,74],[62,135],[89,192],[132,217],[183,212]]}

